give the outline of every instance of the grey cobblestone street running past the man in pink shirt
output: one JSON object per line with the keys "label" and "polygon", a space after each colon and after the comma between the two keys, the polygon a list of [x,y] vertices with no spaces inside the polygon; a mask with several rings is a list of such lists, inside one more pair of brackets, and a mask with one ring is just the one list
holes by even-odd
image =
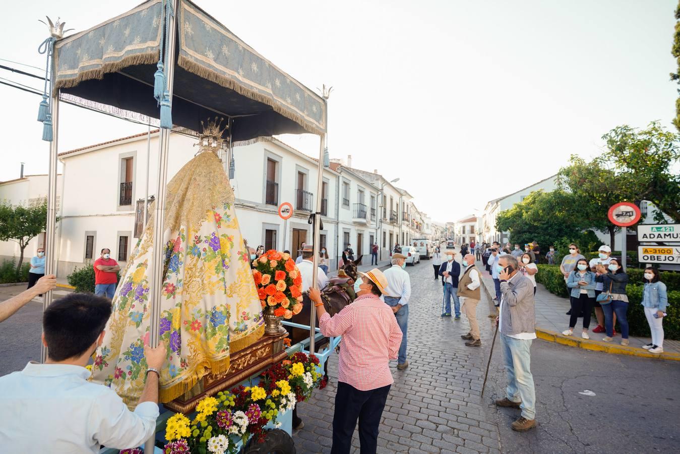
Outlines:
{"label": "grey cobblestone street running past the man in pink shirt", "polygon": [[[488,360],[492,319],[482,291],[477,306],[481,347],[467,347],[460,338],[468,331],[460,321],[441,319],[441,281],[434,280],[432,263],[407,267],[411,275],[409,305],[409,368],[397,370],[390,389],[378,438],[379,453],[498,453],[495,409],[481,404],[480,394]],[[330,359],[331,381],[299,406],[305,427],[294,434],[298,452],[327,453],[332,436],[337,386],[337,355]],[[485,396],[486,398],[486,396]],[[490,421],[494,421],[490,423]],[[358,452],[359,439],[352,440]]]}

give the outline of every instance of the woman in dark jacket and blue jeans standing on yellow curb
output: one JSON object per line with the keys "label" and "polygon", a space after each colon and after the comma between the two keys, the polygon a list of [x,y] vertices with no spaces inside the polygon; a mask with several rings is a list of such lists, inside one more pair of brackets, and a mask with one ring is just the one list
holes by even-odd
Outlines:
{"label": "woman in dark jacket and blue jeans standing on yellow curb", "polygon": [[605,328],[607,329],[607,336],[602,340],[605,342],[613,340],[613,316],[616,313],[616,319],[621,326],[621,344],[628,345],[628,319],[626,318],[626,312],[628,312],[628,295],[626,295],[628,274],[624,271],[619,259],[611,259],[607,268],[605,268],[605,265],[598,265],[597,272],[600,273],[600,276],[597,276],[595,280],[602,282],[602,293],[611,293],[611,303],[600,302],[602,312],[605,312]]}

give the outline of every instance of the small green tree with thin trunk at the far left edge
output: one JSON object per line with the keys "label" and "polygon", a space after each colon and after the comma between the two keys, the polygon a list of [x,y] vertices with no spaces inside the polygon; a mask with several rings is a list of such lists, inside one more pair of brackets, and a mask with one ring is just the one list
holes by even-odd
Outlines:
{"label": "small green tree with thin trunk at the far left edge", "polygon": [[45,231],[47,223],[47,204],[39,206],[22,206],[0,204],[0,241],[12,240],[19,244],[19,263],[16,274],[21,271],[24,261],[24,249],[29,242]]}

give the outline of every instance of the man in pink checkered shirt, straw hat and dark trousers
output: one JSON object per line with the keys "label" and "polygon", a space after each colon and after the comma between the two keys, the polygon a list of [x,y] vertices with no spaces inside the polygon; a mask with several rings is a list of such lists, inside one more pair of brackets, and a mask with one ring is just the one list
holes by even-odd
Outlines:
{"label": "man in pink checkered shirt, straw hat and dark trousers", "polygon": [[401,344],[394,312],[380,299],[387,288],[384,274],[374,268],[359,275],[354,284],[356,299],[334,317],[326,312],[320,292],[309,289],[322,334],[342,336],[331,454],[350,452],[357,419],[361,452],[377,450],[380,417],[394,383],[389,363]]}

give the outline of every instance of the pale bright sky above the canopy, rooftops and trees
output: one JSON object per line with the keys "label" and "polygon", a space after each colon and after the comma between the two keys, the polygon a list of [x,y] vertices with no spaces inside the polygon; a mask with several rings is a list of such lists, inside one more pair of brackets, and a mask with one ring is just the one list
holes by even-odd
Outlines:
{"label": "pale bright sky above the canopy, rooftops and trees", "polygon": [[[0,59],[44,68],[38,19],[61,16],[82,31],[139,3],[7,3]],[[670,125],[675,115],[675,0],[197,3],[303,84],[333,85],[330,157],[401,178],[435,221],[483,210],[573,153],[593,157],[617,125]],[[3,69],[0,78],[42,89]],[[40,98],[0,85],[0,100],[0,180],[18,178],[21,161],[26,174],[46,173]],[[143,131],[63,106],[59,150]],[[316,136],[282,139],[318,155]]]}

